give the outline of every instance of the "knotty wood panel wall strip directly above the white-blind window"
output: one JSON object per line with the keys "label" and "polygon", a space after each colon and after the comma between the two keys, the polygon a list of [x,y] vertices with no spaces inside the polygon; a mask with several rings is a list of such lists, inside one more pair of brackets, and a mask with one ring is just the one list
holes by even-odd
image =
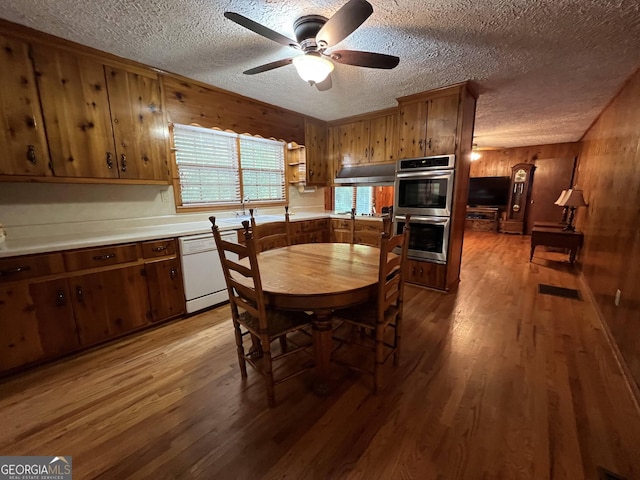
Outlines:
{"label": "knotty wood panel wall strip directly above the white-blind window", "polygon": [[170,122],[196,123],[207,128],[305,143],[304,115],[194,80],[172,75],[161,75],[161,78]]}

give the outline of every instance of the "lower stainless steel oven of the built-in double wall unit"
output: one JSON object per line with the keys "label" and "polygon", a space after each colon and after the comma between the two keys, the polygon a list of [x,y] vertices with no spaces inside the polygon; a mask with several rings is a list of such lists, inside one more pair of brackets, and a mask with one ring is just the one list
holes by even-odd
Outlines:
{"label": "lower stainless steel oven of the built-in double wall unit", "polygon": [[[405,223],[404,215],[395,216],[393,228],[396,234],[402,233]],[[450,226],[449,217],[412,215],[409,220],[409,258],[447,263]]]}

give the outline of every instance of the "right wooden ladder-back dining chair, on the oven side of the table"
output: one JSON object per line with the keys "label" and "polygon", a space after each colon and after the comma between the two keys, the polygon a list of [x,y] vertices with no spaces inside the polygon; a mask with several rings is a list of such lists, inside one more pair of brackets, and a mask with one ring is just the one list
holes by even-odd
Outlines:
{"label": "right wooden ladder-back dining chair, on the oven side of the table", "polygon": [[[407,215],[407,217],[409,217]],[[381,385],[380,369],[393,355],[393,364],[400,361],[403,309],[403,270],[409,245],[409,221],[400,235],[382,233],[380,238],[380,262],[378,265],[377,298],[365,305],[336,310],[334,320],[350,325],[350,333],[339,340],[338,348],[350,345],[373,353],[373,369],[360,368],[355,363],[337,363],[373,374],[373,389],[378,392]],[[394,253],[398,252],[399,254]],[[360,332],[357,334],[357,332]],[[336,349],[337,350],[337,349]]]}

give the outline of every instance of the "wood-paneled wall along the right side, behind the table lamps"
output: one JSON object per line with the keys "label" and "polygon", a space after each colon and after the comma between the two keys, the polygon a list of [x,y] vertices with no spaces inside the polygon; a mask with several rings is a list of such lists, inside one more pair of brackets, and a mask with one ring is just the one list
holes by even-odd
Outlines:
{"label": "wood-paneled wall along the right side, behind the table lamps", "polygon": [[588,203],[576,220],[584,277],[640,385],[640,71],[585,134],[577,182]]}

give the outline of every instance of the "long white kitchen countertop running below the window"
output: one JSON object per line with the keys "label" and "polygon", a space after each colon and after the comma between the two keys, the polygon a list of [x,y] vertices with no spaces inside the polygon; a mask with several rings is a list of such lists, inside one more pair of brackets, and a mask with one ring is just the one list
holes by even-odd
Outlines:
{"label": "long white kitchen countertop running below the window", "polygon": [[[264,223],[284,220],[284,215],[265,213],[263,216],[265,217]],[[256,221],[260,222],[260,217],[261,215],[258,214]],[[295,222],[320,218],[349,218],[349,215],[336,215],[331,212],[296,212],[291,214],[290,221]],[[356,218],[381,221],[379,217],[358,216]],[[176,220],[179,220],[179,218],[176,218]],[[236,230],[241,227],[241,221],[242,219],[235,217],[220,217],[220,230]],[[61,231],[53,232],[46,236],[28,238],[11,238],[9,234],[5,242],[0,244],[0,258],[211,233],[211,222],[208,220],[208,215],[203,215],[203,220],[196,222],[176,221],[174,223],[159,225],[122,226],[118,222],[105,221],[104,224],[104,228],[91,232],[74,233]],[[60,230],[65,229],[64,225],[59,225],[57,228]]]}

